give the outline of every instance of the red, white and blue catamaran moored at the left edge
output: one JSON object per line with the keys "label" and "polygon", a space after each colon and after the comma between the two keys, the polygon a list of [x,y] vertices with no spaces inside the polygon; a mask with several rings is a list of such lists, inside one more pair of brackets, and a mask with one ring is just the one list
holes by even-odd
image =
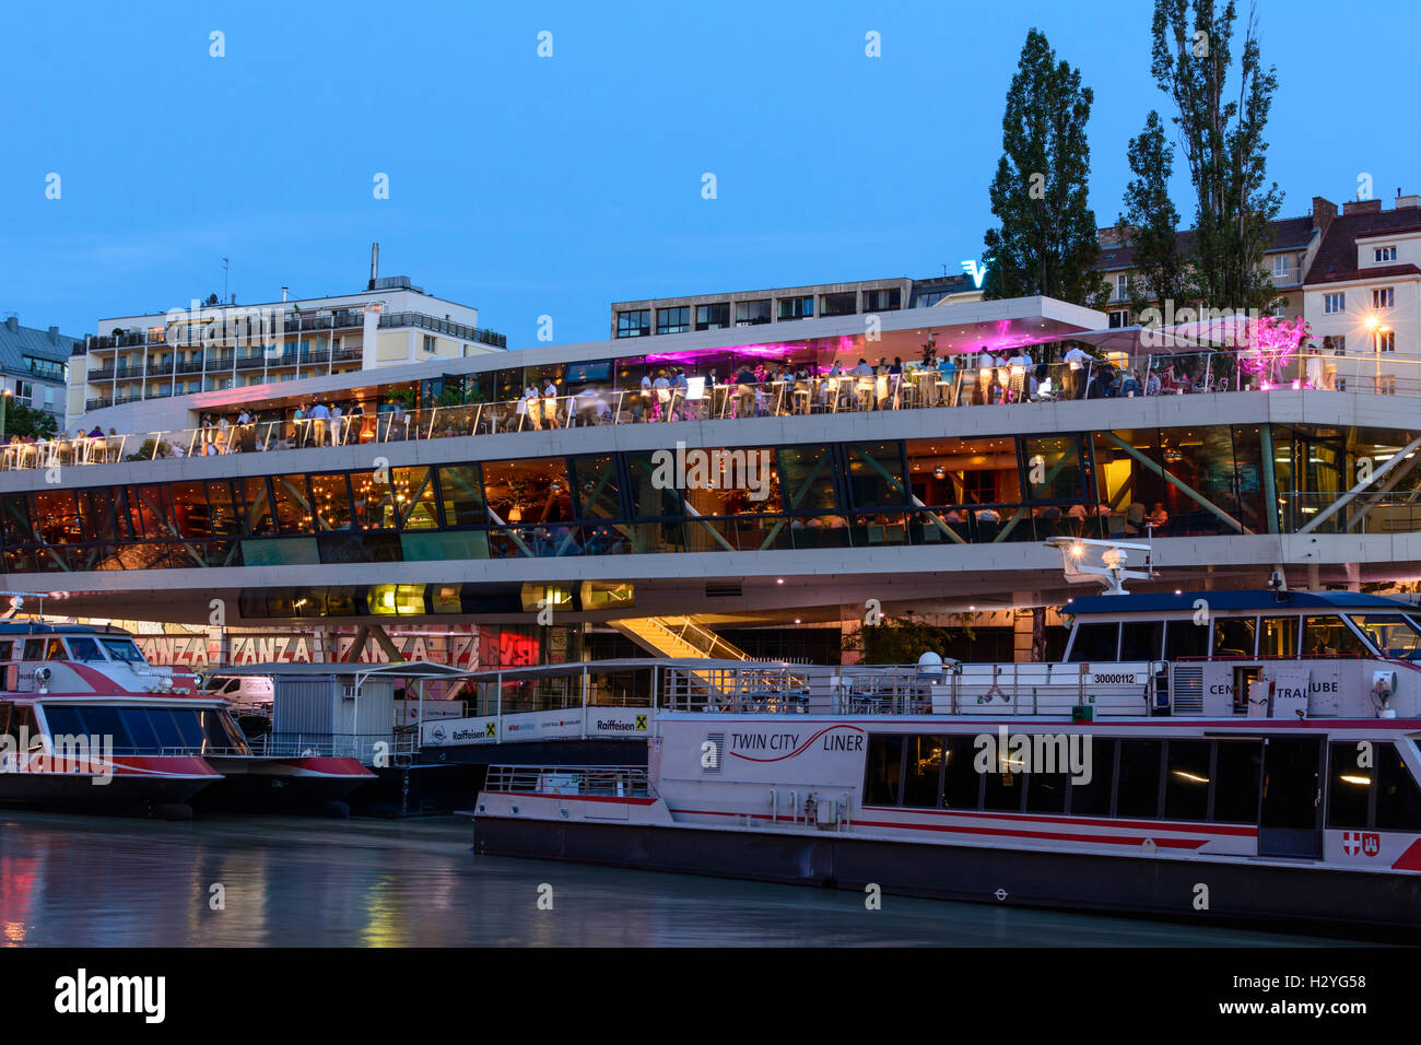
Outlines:
{"label": "red, white and blue catamaran moored at the left edge", "polygon": [[0,623],[0,803],[188,818],[202,792],[216,808],[348,815],[341,799],[374,779],[351,758],[254,752],[223,695],[149,664],[119,628]]}

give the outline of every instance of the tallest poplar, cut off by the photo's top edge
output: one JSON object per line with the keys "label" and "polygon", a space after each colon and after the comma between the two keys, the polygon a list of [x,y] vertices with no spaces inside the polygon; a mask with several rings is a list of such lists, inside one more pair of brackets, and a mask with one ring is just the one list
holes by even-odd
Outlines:
{"label": "tallest poplar, cut off by the photo's top edge", "polygon": [[1195,191],[1191,296],[1211,309],[1266,310],[1277,300],[1263,252],[1283,198],[1268,181],[1268,114],[1277,90],[1249,13],[1238,87],[1228,82],[1238,10],[1229,0],[1155,0],[1151,73],[1174,101]]}

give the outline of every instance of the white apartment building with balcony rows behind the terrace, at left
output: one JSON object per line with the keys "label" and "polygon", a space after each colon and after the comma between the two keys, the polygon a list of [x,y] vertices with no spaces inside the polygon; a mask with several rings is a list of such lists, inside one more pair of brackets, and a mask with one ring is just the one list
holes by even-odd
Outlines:
{"label": "white apartment building with balcony rows behind the terrace, at left", "polygon": [[408,276],[381,277],[377,259],[374,252],[365,289],[351,294],[293,299],[283,287],[280,300],[239,304],[213,294],[101,318],[98,333],[72,348],[67,427],[145,400],[507,348],[503,334],[479,327],[477,309],[429,294]]}

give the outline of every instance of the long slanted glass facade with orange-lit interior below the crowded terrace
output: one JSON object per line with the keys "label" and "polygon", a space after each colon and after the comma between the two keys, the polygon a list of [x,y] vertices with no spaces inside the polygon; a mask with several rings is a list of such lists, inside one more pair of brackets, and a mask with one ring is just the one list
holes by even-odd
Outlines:
{"label": "long slanted glass facade with orange-lit interior below the crowded terrace", "polygon": [[[1039,542],[1151,525],[1164,537],[1290,532],[1313,518],[1307,498],[1346,489],[1356,461],[1405,445],[1388,438],[1222,425],[47,488],[0,495],[0,537],[6,570],[41,573]],[[1414,482],[1403,472],[1395,496]],[[1407,529],[1387,496],[1358,499],[1329,530],[1363,508],[1383,512],[1388,532]]]}

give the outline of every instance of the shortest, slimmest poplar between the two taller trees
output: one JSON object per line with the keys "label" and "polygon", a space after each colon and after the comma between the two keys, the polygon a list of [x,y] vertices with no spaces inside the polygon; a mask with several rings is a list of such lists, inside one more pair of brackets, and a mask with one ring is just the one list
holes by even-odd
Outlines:
{"label": "shortest, slimmest poplar between the two taller trees", "polygon": [[1117,227],[1120,242],[1134,247],[1130,303],[1138,313],[1150,301],[1181,301],[1185,293],[1179,212],[1169,199],[1174,145],[1154,109],[1140,136],[1130,139],[1127,156],[1134,178],[1125,185],[1125,210]]}

